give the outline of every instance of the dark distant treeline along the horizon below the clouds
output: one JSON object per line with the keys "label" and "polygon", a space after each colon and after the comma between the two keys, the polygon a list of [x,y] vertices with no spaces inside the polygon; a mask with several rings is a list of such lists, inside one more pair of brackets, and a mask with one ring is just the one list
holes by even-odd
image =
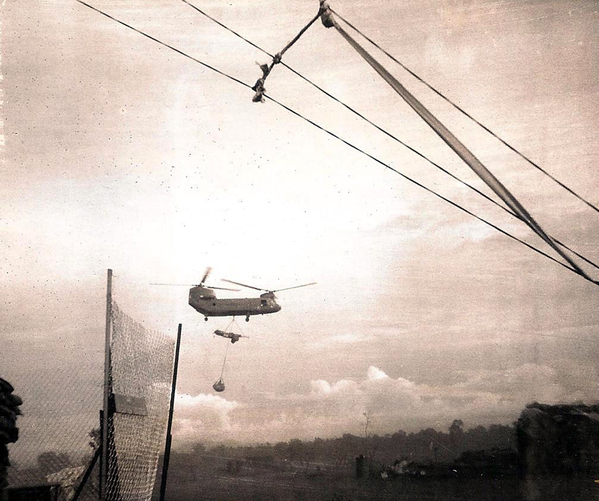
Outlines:
{"label": "dark distant treeline along the horizon below the clouds", "polygon": [[447,461],[465,451],[492,449],[516,450],[515,428],[511,425],[493,424],[465,430],[464,423],[455,420],[447,431],[427,428],[417,433],[399,430],[393,434],[361,437],[346,433],[338,438],[315,438],[309,441],[292,439],[288,442],[251,446],[207,447],[198,443],[193,448],[193,454],[342,465],[351,464],[359,455],[381,462],[400,459]]}

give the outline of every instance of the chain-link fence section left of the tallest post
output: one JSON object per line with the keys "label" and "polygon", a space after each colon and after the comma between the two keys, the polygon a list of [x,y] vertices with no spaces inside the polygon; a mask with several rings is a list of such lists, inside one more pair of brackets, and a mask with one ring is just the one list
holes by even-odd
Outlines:
{"label": "chain-link fence section left of the tallest post", "polygon": [[[73,497],[98,445],[102,362],[96,358],[40,364],[12,378],[23,404],[19,438],[9,446],[8,487],[15,491],[9,499],[31,498],[34,487],[52,489],[60,500]],[[79,499],[97,499],[97,486],[92,475]]]}

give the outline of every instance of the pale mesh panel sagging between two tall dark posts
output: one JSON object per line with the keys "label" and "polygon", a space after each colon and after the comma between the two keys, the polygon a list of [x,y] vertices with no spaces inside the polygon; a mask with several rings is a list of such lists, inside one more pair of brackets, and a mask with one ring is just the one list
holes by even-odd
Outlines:
{"label": "pale mesh panel sagging between two tall dark posts", "polygon": [[164,446],[174,340],[112,305],[107,501],[150,501]]}

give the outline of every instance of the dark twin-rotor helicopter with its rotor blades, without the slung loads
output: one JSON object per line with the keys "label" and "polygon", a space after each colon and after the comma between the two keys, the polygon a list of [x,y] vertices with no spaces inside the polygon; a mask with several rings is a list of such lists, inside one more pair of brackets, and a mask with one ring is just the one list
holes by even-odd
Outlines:
{"label": "dark twin-rotor helicopter with its rotor blades, without the slung loads", "polygon": [[257,298],[218,299],[214,293],[215,289],[239,289],[226,289],[224,287],[212,287],[205,285],[210,271],[211,268],[208,268],[200,284],[189,289],[189,305],[204,315],[204,320],[206,321],[208,320],[208,317],[235,317],[239,315],[245,316],[245,321],[249,322],[250,316],[252,315],[276,313],[277,311],[281,311],[281,306],[277,304],[275,292],[298,289],[300,287],[307,287],[308,285],[314,285],[316,283],[311,282],[309,284],[295,285],[285,289],[268,290],[262,289],[260,287],[254,287],[253,285],[234,282],[233,280],[223,280],[224,282],[239,285],[241,287],[247,287],[248,289],[263,291],[263,294],[260,294],[260,297]]}

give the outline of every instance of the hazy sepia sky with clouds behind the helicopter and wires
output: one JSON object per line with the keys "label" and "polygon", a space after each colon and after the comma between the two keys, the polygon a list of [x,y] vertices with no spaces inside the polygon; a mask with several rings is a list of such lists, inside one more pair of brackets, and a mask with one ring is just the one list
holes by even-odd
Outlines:
{"label": "hazy sepia sky with clouds behind the helicopter and wires", "polygon": [[[250,86],[258,64],[270,62],[183,2],[92,4]],[[318,9],[304,0],[197,5],[270,53]],[[596,2],[331,6],[599,204]],[[596,402],[594,284],[77,2],[3,0],[1,8],[2,375],[23,396],[29,437],[41,433],[31,423],[61,422],[61,391],[79,405],[69,419],[86,416],[82,432],[95,422],[108,268],[114,299],[130,316],[173,336],[183,325],[175,447],[359,435],[366,420],[379,434],[447,429],[454,419],[467,428],[508,424],[534,400]],[[596,211],[373,54],[548,233],[599,261]],[[490,194],[334,30],[315,23],[284,61]],[[521,223],[281,65],[266,90],[554,255]],[[220,394],[212,384],[227,341],[212,333],[229,319],[204,322],[186,287],[150,285],[195,284],[209,266],[212,285],[317,282],[278,294],[275,315],[237,319],[249,338],[229,346]]]}

